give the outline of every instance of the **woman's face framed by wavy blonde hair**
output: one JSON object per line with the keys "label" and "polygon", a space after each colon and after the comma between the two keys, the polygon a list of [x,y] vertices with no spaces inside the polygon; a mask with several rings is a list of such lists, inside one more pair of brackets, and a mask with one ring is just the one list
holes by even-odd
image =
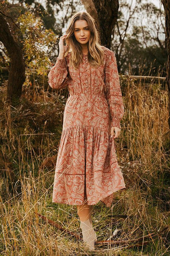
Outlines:
{"label": "woman's face framed by wavy blonde hair", "polygon": [[[88,23],[85,19],[77,20],[74,23],[74,35],[75,39],[83,45],[86,45],[90,39],[90,30],[88,27]],[[84,39],[84,40],[82,40]]]}

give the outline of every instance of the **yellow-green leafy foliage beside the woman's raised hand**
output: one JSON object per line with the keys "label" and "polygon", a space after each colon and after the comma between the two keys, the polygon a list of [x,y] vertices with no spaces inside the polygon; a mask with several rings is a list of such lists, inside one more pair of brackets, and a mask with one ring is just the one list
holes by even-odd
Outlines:
{"label": "yellow-green leafy foliage beside the woman's raised hand", "polygon": [[27,68],[36,69],[38,74],[47,75],[47,69],[51,66],[49,52],[56,42],[56,35],[51,29],[44,29],[40,17],[29,11],[18,17],[18,23]]}

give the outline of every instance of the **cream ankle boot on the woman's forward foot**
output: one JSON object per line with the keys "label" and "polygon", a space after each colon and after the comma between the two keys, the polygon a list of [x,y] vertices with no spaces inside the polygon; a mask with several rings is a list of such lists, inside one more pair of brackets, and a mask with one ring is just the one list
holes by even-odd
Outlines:
{"label": "cream ankle boot on the woman's forward foot", "polygon": [[95,250],[95,241],[97,241],[95,230],[92,228],[90,218],[87,221],[80,221],[82,229],[83,242],[88,246],[89,250]]}

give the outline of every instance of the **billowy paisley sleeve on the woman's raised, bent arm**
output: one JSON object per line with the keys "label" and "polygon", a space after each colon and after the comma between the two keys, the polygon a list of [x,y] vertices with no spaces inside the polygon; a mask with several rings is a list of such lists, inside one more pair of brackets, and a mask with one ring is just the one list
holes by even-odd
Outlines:
{"label": "billowy paisley sleeve on the woman's raised, bent arm", "polygon": [[48,79],[48,83],[53,89],[63,89],[68,86],[69,76],[66,58],[59,59],[57,57],[55,65],[48,74]]}

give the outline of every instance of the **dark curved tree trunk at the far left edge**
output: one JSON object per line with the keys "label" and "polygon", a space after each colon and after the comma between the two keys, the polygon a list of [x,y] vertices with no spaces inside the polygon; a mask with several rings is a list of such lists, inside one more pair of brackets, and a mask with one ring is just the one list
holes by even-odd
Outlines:
{"label": "dark curved tree trunk at the far left edge", "polygon": [[7,102],[13,103],[21,96],[22,85],[26,79],[22,49],[14,40],[8,24],[0,13],[0,41],[3,43],[11,59],[7,84]]}

